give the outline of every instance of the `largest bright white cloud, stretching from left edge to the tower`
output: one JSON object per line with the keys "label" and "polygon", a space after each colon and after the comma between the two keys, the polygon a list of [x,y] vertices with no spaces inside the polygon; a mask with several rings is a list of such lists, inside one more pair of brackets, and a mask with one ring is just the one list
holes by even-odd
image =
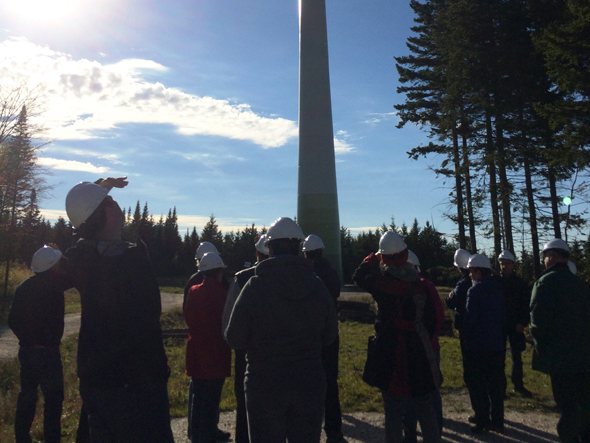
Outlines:
{"label": "largest bright white cloud, stretching from left edge to the tower", "polygon": [[200,97],[142,78],[143,71],[165,73],[155,61],[128,59],[114,64],[75,60],[25,39],[0,43],[3,86],[26,78],[43,85],[42,123],[56,140],[85,140],[116,132],[128,123],[169,124],[180,134],[247,140],[279,147],[297,136],[291,120],[256,114],[248,104]]}

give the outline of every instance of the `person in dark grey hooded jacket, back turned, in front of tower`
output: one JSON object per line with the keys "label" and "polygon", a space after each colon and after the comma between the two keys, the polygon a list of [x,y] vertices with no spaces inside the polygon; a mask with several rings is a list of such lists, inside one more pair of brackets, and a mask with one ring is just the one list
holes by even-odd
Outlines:
{"label": "person in dark grey hooded jacket, back turned, in front of tower", "polygon": [[311,263],[298,257],[303,232],[277,219],[266,239],[270,258],[256,266],[229,320],[225,337],[248,356],[245,390],[252,443],[317,443],[326,377],[322,347],[338,335],[334,303]]}

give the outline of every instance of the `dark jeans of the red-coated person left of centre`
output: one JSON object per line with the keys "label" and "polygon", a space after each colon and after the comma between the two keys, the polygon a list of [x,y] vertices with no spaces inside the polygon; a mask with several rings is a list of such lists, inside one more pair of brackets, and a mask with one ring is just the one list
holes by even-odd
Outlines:
{"label": "dark jeans of the red-coated person left of centre", "polygon": [[217,441],[219,402],[225,378],[202,379],[193,377],[193,406],[191,443],[214,443]]}

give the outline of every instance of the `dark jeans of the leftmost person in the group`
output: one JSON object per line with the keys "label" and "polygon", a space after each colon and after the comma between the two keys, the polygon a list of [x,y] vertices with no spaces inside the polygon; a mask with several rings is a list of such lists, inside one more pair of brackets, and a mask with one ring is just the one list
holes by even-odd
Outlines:
{"label": "dark jeans of the leftmost person in the group", "polygon": [[41,387],[43,433],[47,443],[61,441],[61,412],[64,399],[63,368],[59,348],[20,348],[20,392],[16,402],[14,434],[16,443],[30,443],[35,418],[37,388]]}

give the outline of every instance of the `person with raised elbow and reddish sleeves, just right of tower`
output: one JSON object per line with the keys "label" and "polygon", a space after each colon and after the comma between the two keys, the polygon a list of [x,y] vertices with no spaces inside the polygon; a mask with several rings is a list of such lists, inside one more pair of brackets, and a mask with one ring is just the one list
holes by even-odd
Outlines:
{"label": "person with raised elbow and reddish sleeves, just right of tower", "polygon": [[390,381],[381,389],[388,442],[403,441],[402,414],[410,401],[426,443],[441,441],[432,392],[440,387],[431,339],[436,330],[436,311],[426,284],[408,263],[408,247],[399,234],[387,231],[379,251],[367,256],[352,279],[377,302],[375,334],[395,350]]}

